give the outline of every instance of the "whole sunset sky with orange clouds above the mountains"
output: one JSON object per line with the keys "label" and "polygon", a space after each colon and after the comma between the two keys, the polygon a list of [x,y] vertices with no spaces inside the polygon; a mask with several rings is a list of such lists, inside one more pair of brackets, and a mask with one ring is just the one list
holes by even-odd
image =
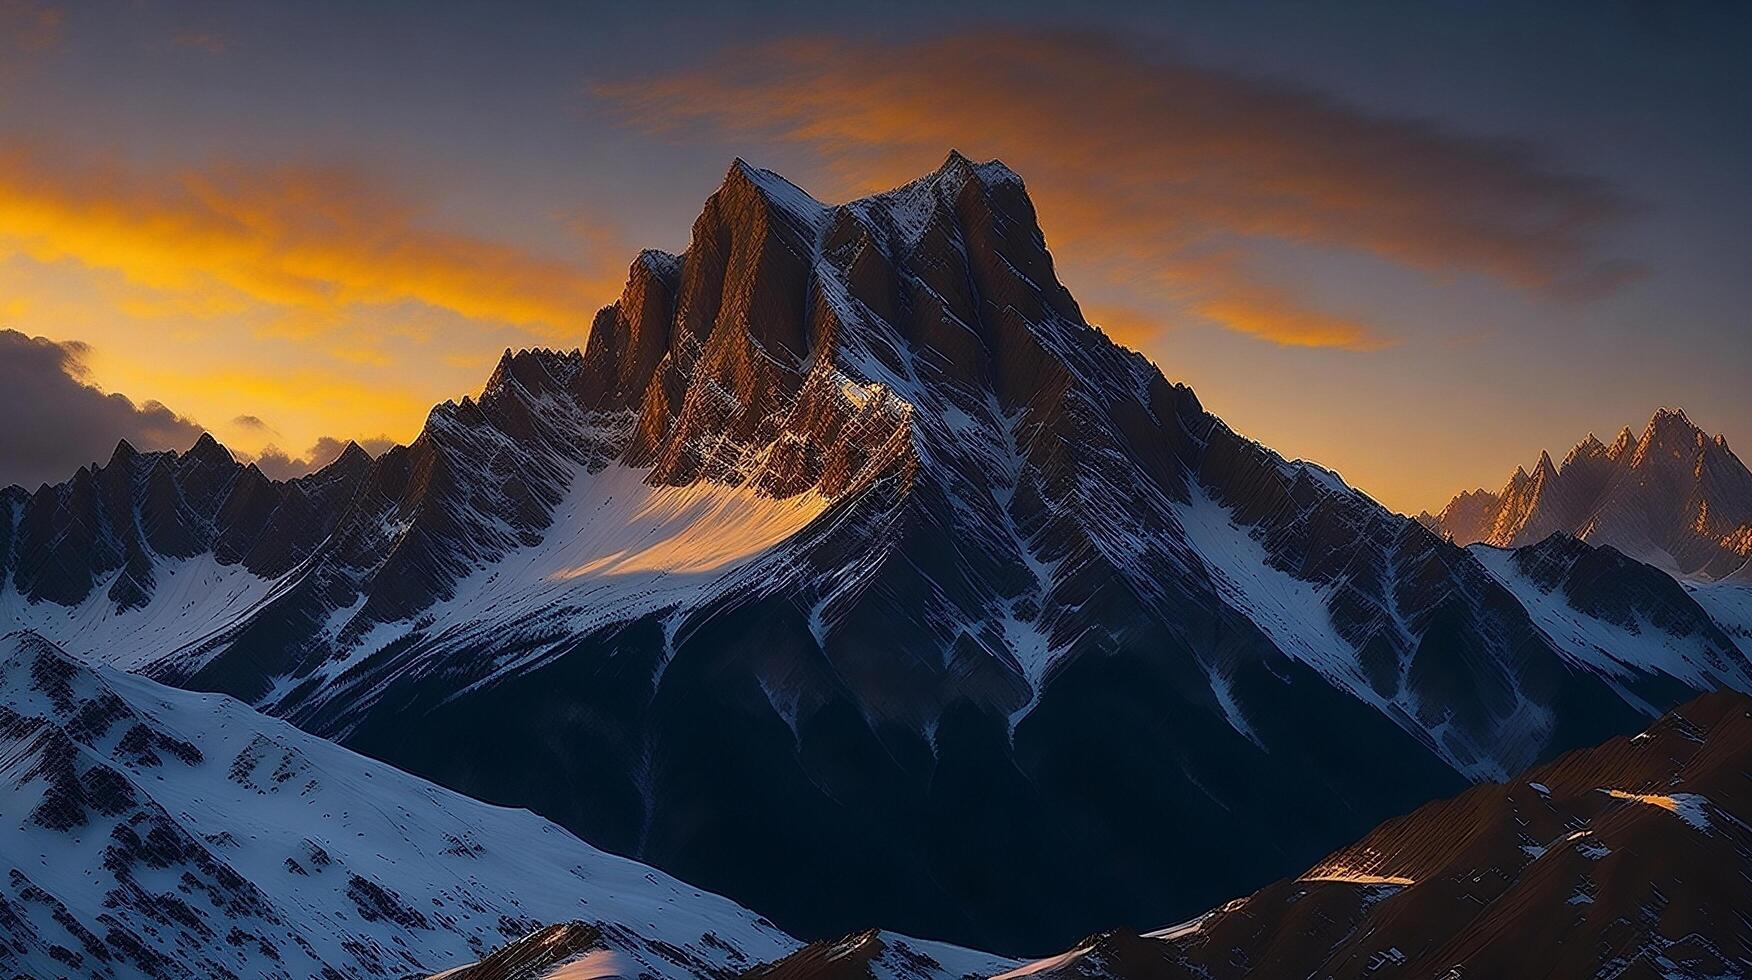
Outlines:
{"label": "whole sunset sky with orange clouds above the mountains", "polygon": [[839,202],[951,147],[1091,323],[1393,508],[1663,405],[1752,440],[1748,5],[823,7],[0,0],[0,484],[412,440],[732,158]]}

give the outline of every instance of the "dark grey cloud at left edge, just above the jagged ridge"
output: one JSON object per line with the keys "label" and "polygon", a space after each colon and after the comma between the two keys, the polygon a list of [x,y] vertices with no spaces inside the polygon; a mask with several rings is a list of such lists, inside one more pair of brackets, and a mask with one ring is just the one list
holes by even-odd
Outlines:
{"label": "dark grey cloud at left edge, just above the jagged ridge", "polygon": [[135,449],[187,449],[201,428],[158,401],[135,405],[88,382],[88,347],[0,330],[0,486],[35,489]]}

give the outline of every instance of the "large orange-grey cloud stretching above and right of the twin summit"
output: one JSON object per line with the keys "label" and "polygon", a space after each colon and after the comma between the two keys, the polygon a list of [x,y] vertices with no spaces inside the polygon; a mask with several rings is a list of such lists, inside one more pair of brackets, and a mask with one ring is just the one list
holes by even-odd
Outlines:
{"label": "large orange-grey cloud stretching above and right of the twin summit", "polygon": [[[1598,254],[1626,210],[1528,147],[1374,114],[1286,82],[1097,35],[967,32],[790,40],[594,93],[634,124],[813,149],[851,195],[946,147],[1030,181],[1072,263],[1279,344],[1375,349],[1370,324],[1300,305],[1212,251],[1342,247],[1430,273],[1586,296],[1633,270]],[[1258,263],[1253,263],[1254,266]]]}

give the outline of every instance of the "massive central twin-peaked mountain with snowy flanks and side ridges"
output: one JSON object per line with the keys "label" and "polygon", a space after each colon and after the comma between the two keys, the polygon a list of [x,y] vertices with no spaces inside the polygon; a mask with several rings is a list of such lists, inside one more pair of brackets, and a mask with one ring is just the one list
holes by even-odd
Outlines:
{"label": "massive central twin-peaked mountain with snowy flanks and side ridges", "polygon": [[184,459],[12,491],[0,612],[809,940],[1142,927],[1752,687],[1642,565],[1510,579],[1233,433],[960,154],[844,205],[736,161],[582,351],[506,351],[321,501],[270,482],[312,515],[249,535],[284,563],[200,550],[245,477],[138,475]]}

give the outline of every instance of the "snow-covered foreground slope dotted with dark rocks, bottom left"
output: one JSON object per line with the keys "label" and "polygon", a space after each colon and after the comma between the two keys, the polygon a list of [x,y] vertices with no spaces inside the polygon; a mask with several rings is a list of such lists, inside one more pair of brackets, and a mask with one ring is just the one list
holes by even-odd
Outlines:
{"label": "snow-covered foreground slope dotted with dark rocks, bottom left", "polygon": [[231,698],[0,638],[5,973],[406,976],[587,917],[639,976],[795,948],[755,913]]}

